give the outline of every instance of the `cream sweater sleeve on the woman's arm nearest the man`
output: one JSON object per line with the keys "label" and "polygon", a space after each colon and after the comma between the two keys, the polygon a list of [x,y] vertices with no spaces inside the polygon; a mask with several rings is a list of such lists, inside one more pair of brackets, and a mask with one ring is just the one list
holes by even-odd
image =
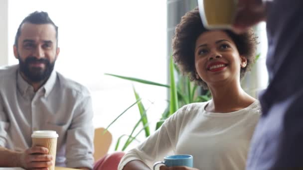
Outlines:
{"label": "cream sweater sleeve on the woman's arm nearest the man", "polygon": [[174,152],[178,129],[176,129],[177,119],[182,115],[183,108],[170,116],[162,126],[149,136],[138,147],[130,150],[122,158],[118,170],[133,161],[140,160],[152,169],[154,162],[163,161],[163,157]]}

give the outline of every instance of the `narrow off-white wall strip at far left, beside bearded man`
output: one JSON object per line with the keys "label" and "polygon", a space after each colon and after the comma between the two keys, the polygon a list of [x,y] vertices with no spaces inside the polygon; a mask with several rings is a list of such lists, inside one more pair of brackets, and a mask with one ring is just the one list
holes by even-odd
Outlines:
{"label": "narrow off-white wall strip at far left, beside bearded man", "polygon": [[0,66],[8,64],[8,0],[0,0]]}

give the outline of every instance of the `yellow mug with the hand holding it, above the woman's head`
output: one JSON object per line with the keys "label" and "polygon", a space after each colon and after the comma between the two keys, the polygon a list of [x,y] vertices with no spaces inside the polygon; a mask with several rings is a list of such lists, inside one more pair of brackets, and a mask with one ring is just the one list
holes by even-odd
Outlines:
{"label": "yellow mug with the hand holding it, above the woman's head", "polygon": [[272,0],[198,0],[198,7],[205,28],[241,33],[266,19],[265,1]]}

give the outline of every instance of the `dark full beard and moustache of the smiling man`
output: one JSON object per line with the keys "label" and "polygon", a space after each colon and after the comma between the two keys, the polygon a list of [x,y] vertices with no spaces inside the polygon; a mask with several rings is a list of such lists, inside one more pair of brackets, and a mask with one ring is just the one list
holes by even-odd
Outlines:
{"label": "dark full beard and moustache of the smiling man", "polygon": [[[24,76],[33,83],[39,83],[48,79],[51,72],[54,70],[54,66],[56,62],[55,60],[53,63],[50,63],[50,61],[46,58],[37,59],[32,56],[27,57],[23,62],[20,58],[20,55],[18,55],[18,60],[19,60],[20,72],[23,73]],[[35,63],[35,62],[44,63],[45,64],[44,69],[39,67],[29,66],[31,63]]]}

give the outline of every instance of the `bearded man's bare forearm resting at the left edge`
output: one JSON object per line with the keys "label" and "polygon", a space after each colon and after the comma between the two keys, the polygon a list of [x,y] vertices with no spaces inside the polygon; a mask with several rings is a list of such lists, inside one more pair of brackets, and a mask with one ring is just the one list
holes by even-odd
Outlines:
{"label": "bearded man's bare forearm resting at the left edge", "polygon": [[20,156],[21,152],[8,150],[0,147],[0,167],[21,167]]}

